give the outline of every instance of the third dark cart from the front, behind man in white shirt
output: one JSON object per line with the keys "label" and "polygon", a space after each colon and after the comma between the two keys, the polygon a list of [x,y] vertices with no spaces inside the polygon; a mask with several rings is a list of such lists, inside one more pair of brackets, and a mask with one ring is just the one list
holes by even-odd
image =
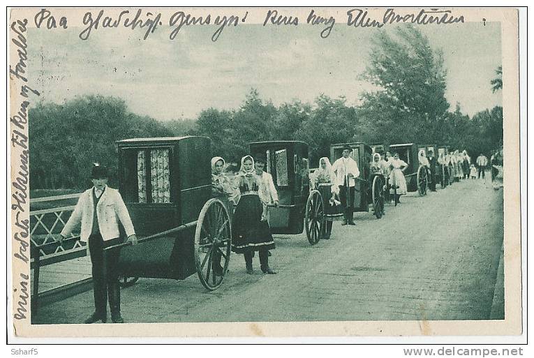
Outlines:
{"label": "third dark cart from the front, behind man in white shirt", "polygon": [[[384,212],[384,186],[385,178],[380,174],[371,174],[371,160],[373,149],[362,142],[339,143],[330,145],[330,161],[332,164],[343,156],[343,147],[353,149],[350,157],[358,165],[359,177],[355,182],[355,211],[369,211],[369,204],[373,204],[373,211],[377,218]],[[381,144],[383,145],[383,144]]]}

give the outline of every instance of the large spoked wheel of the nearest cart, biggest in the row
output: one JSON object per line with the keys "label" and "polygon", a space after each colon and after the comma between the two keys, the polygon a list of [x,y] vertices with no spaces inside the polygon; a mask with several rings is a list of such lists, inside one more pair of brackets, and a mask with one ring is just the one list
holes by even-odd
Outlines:
{"label": "large spoked wheel of the nearest cart, biggest in the row", "polygon": [[198,215],[195,230],[195,265],[200,283],[215,290],[223,283],[230,262],[232,225],[221,200],[210,199]]}

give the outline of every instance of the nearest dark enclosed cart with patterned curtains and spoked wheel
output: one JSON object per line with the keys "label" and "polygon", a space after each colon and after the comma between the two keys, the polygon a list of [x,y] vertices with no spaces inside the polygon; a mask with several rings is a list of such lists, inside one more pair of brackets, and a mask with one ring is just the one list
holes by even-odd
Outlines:
{"label": "nearest dark enclosed cart with patterned curtains and spoked wheel", "polygon": [[[121,140],[117,147],[119,190],[142,238],[138,245],[121,248],[121,276],[183,280],[197,272],[200,277],[199,260],[202,268],[207,264],[206,272],[211,271],[212,251],[230,247],[230,223],[224,221],[229,216],[222,202],[211,198],[209,138],[135,138]],[[228,242],[202,232],[202,223],[210,216],[216,222],[212,226],[219,225],[217,230]],[[224,254],[225,266],[228,255],[229,251]],[[220,284],[214,275],[212,279],[207,288]]]}

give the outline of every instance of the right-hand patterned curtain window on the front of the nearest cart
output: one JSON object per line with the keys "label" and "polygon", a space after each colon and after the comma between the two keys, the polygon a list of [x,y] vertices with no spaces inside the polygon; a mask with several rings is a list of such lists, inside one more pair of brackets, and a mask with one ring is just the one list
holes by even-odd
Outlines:
{"label": "right-hand patterned curtain window on the front of the nearest cart", "polygon": [[152,202],[170,202],[168,149],[150,151],[150,172]]}

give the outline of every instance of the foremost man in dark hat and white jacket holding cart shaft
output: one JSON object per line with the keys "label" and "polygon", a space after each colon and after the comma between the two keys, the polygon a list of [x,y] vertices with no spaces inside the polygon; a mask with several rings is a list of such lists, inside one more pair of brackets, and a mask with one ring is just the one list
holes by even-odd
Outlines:
{"label": "foremost man in dark hat and white jacket holding cart shaft", "polygon": [[104,267],[104,249],[122,243],[119,223],[124,226],[126,236],[132,244],[137,244],[135,230],[128,214],[128,209],[116,189],[107,186],[107,170],[95,164],[91,171],[94,186],[80,195],[76,207],[61,231],[60,242],[67,237],[75,226],[81,223],[80,241],[86,242],[91,255],[94,313],[85,323],[107,320],[107,297],[110,300],[111,319],[113,323],[122,323],[121,294],[117,277],[116,264],[120,249],[107,251],[107,270]]}

